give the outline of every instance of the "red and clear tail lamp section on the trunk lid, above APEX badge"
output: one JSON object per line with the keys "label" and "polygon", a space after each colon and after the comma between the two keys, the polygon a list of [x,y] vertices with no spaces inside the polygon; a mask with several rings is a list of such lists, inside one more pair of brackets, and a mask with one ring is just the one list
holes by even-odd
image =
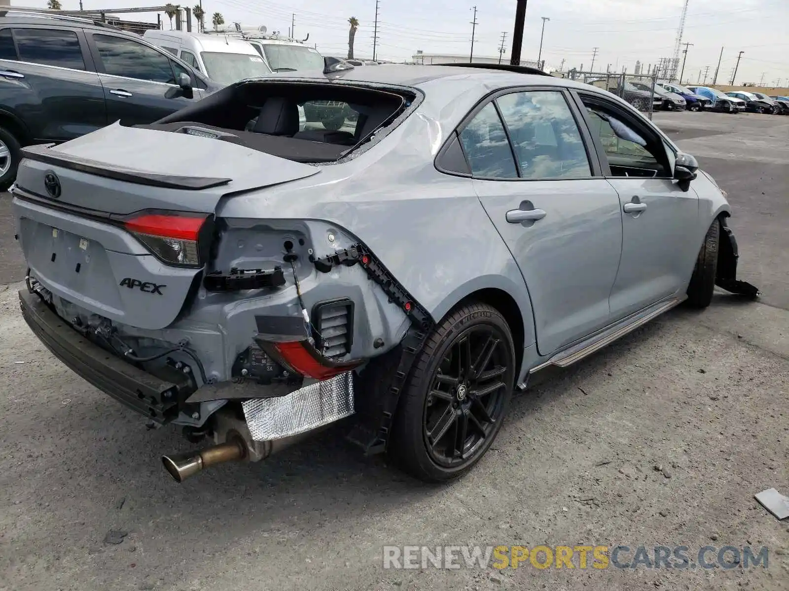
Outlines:
{"label": "red and clear tail lamp section on the trunk lid, above APEX badge", "polygon": [[123,227],[166,265],[199,267],[206,221],[206,214],[140,214],[127,218]]}

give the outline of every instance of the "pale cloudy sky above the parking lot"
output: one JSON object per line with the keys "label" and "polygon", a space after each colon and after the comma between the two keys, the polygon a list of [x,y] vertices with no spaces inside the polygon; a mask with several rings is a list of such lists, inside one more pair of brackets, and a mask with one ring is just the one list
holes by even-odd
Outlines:
{"label": "pale cloudy sky above the parking lot", "polygon": [[[192,0],[194,1],[194,0]],[[174,0],[170,2],[176,3]],[[292,19],[299,39],[309,34],[324,55],[344,57],[348,49],[348,18],[360,22],[354,44],[356,57],[372,58],[376,0],[203,0],[209,15],[222,13],[225,21],[264,24],[269,31],[287,33]],[[403,61],[417,50],[426,54],[469,54],[473,2],[477,2],[474,54],[499,56],[502,34],[507,33],[504,56],[510,55],[515,0],[421,0],[407,7],[402,0],[379,0],[376,57]],[[595,70],[611,66],[633,72],[636,61],[654,64],[672,57],[685,0],[529,0],[522,58],[536,60],[545,21],[542,58],[558,68],[589,69],[598,47]],[[12,0],[17,6],[45,6],[46,0]],[[61,0],[63,9],[79,9],[78,0]],[[137,0],[83,0],[85,9],[156,6],[164,2]],[[169,21],[164,15],[164,27]],[[129,15],[153,20],[155,14]],[[209,25],[210,26],[210,25]],[[789,2],[787,0],[690,0],[682,43],[688,48],[683,80],[712,82],[721,47],[718,83],[726,84],[740,51],[737,84],[789,86]],[[683,47],[684,48],[684,47]],[[682,58],[682,54],[680,54]]]}

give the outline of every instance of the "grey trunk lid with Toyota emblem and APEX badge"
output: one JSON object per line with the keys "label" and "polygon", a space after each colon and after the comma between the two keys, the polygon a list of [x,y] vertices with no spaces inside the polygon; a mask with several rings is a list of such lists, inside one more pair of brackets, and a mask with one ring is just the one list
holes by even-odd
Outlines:
{"label": "grey trunk lid with Toyota emblem and APEX badge", "polygon": [[118,124],[25,156],[13,211],[32,275],[69,302],[142,329],[170,325],[202,269],[163,263],[122,216],[210,215],[228,193],[320,171],[217,139]]}

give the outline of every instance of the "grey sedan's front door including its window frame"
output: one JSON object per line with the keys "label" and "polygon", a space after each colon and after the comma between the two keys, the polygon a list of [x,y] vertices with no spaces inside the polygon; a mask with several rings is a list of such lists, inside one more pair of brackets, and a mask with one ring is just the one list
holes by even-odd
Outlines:
{"label": "grey sedan's front door including its window frame", "polygon": [[581,101],[622,207],[622,261],[611,290],[616,320],[686,287],[699,247],[698,197],[679,188],[675,152],[642,117],[604,97]]}

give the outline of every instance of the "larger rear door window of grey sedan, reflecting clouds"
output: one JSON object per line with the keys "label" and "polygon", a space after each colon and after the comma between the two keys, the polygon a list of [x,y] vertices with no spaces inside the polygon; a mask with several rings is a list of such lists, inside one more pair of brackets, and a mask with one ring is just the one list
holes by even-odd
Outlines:
{"label": "larger rear door window of grey sedan, reflecting clouds", "polygon": [[581,132],[561,92],[513,92],[496,102],[510,132],[522,178],[591,176]]}

